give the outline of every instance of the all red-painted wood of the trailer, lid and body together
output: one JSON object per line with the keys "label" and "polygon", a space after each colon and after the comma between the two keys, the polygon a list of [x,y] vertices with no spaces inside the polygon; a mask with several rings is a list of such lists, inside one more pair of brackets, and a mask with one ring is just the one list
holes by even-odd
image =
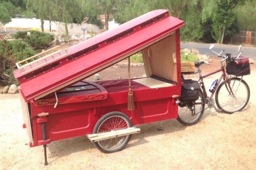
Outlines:
{"label": "all red-painted wood of the trailer, lid and body together", "polygon": [[[170,17],[167,10],[151,11],[114,30],[73,45],[67,49],[69,55],[52,63],[54,67],[44,65],[27,74],[23,74],[23,71],[28,70],[30,66],[15,71],[15,77],[20,82],[20,93],[29,102],[34,141],[34,145],[30,142],[29,146],[90,134],[96,122],[112,111],[125,113],[133,125],[177,118],[178,106],[172,96],[181,94],[179,28],[183,25],[182,20]],[[132,81],[135,104],[133,111],[127,109],[127,79],[104,82],[77,80],[78,82],[69,87],[86,86],[86,90],[70,92],[63,86],[57,92],[56,108],[53,107],[56,102],[53,93],[36,101],[34,99],[81,75],[93,73],[97,68],[103,69],[109,62],[133,53],[173,31],[176,41],[177,84],[164,88],[149,88]],[[61,52],[64,53],[65,51]],[[50,61],[51,58],[46,60]],[[42,62],[44,61],[31,67]],[[46,125],[46,141],[42,139],[42,121],[38,116],[42,112],[49,113],[42,118]],[[28,124],[26,128],[29,128]]]}

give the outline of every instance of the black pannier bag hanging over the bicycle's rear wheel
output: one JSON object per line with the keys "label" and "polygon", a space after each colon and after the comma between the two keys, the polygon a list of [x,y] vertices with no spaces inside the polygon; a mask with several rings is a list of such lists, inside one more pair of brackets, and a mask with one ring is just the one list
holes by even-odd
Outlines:
{"label": "black pannier bag hanging over the bicycle's rear wheel", "polygon": [[198,81],[192,79],[182,80],[184,84],[181,87],[181,97],[182,101],[197,100],[199,98],[200,85]]}

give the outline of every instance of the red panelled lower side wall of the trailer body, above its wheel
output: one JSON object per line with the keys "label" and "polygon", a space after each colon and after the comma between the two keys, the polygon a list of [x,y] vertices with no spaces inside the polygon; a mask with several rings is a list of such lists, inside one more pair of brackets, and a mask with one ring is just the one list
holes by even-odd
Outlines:
{"label": "red panelled lower side wall of the trailer body, above its wheel", "polygon": [[[121,85],[128,80],[119,81]],[[46,131],[47,139],[51,141],[90,134],[99,118],[112,111],[125,113],[130,117],[133,125],[177,118],[178,106],[172,95],[180,95],[180,86],[174,84],[165,88],[148,88],[140,85],[133,91],[134,111],[127,110],[128,88],[108,93],[108,98],[104,100],[65,103],[57,105],[57,108],[53,108],[53,105],[39,107],[35,101],[31,102],[35,146],[40,145],[39,141],[42,140],[41,123],[37,122],[38,113],[42,112],[49,113]]]}

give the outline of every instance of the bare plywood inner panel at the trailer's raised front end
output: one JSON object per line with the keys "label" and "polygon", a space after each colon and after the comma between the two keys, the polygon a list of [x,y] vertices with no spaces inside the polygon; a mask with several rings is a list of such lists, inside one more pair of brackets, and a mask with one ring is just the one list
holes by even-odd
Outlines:
{"label": "bare plywood inner panel at the trailer's raised front end", "polygon": [[152,74],[177,82],[175,34],[142,51],[146,76]]}

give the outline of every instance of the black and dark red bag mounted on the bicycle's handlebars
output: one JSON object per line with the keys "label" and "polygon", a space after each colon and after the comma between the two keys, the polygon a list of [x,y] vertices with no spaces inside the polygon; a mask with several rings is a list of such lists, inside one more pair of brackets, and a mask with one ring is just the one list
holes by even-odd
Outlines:
{"label": "black and dark red bag mounted on the bicycle's handlebars", "polygon": [[245,76],[250,74],[249,58],[240,57],[239,59],[227,59],[226,72],[227,74],[236,76]]}

